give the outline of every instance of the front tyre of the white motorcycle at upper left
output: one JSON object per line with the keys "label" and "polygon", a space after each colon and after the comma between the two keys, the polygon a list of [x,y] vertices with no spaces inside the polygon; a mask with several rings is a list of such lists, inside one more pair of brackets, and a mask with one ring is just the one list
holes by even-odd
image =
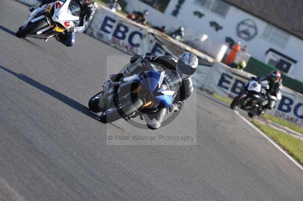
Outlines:
{"label": "front tyre of the white motorcycle at upper left", "polygon": [[25,38],[28,34],[36,33],[37,31],[48,26],[48,23],[45,18],[38,20],[37,22],[29,22],[26,27],[20,27],[16,33],[18,38]]}

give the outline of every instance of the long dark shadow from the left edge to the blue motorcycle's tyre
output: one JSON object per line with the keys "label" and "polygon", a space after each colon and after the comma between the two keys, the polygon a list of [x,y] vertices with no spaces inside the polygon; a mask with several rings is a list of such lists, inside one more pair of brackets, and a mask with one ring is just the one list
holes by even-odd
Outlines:
{"label": "long dark shadow from the left edge to the blue motorcycle's tyre", "polygon": [[81,113],[83,113],[83,114],[85,114],[85,115],[87,115],[87,116],[89,116],[89,117],[91,117],[91,118],[93,118],[95,120],[99,120],[98,115],[96,115],[93,112],[90,112],[87,107],[85,107],[81,103],[79,103],[79,102],[77,102],[77,101],[75,101],[75,100],[73,100],[73,99],[65,96],[64,94],[62,94],[62,93],[60,93],[60,92],[58,92],[58,91],[56,91],[54,89],[51,89],[51,88],[49,88],[49,87],[47,87],[47,86],[45,86],[45,85],[43,85],[43,84],[41,84],[41,83],[33,80],[33,79],[31,79],[30,77],[27,77],[26,75],[23,75],[23,74],[20,74],[20,73],[15,73],[15,72],[13,72],[13,71],[5,68],[2,65],[0,65],[0,69],[2,69],[4,71],[6,71],[6,72],[8,72],[8,73],[10,73],[10,74],[12,74],[14,76],[16,76],[18,79],[20,79],[23,82],[25,82],[25,83],[27,83],[27,84],[29,84],[29,85],[31,85],[31,86],[39,89],[40,91],[42,91],[42,92],[44,92],[44,93],[46,93],[48,95],[53,96],[54,98],[60,100],[61,102],[67,104],[68,106],[74,108],[75,110],[77,110],[77,111],[79,111],[79,112],[81,112]]}

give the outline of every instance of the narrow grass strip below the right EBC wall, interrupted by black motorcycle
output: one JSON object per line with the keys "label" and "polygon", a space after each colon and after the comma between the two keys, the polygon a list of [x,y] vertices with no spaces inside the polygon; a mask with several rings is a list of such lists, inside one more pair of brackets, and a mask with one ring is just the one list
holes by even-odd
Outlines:
{"label": "narrow grass strip below the right EBC wall, interrupted by black motorcycle", "polygon": [[[219,100],[221,100],[221,101],[223,101],[225,103],[228,103],[228,104],[231,104],[231,102],[232,102],[232,99],[223,97],[223,96],[221,96],[219,94],[216,94],[216,93],[213,94],[213,97],[217,98],[217,99],[219,99]],[[280,125],[286,126],[286,127],[290,128],[290,129],[292,129],[294,131],[297,131],[297,132],[303,134],[303,128],[300,127],[300,126],[298,126],[298,125],[296,125],[296,124],[294,124],[294,123],[285,121],[285,120],[280,119],[280,118],[278,118],[278,117],[276,117],[274,115],[271,115],[271,114],[264,114],[262,117],[266,118],[268,120],[271,120],[271,121],[273,121],[275,123],[278,123]]]}

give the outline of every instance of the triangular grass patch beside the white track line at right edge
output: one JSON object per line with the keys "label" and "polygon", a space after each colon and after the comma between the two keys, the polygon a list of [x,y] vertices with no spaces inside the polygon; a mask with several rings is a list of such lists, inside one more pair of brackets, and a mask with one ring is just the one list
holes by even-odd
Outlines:
{"label": "triangular grass patch beside the white track line at right edge", "polygon": [[288,153],[290,153],[297,161],[303,164],[303,141],[294,138],[286,133],[274,129],[269,125],[260,123],[258,120],[252,120],[263,132],[274,139],[280,146],[282,146]]}

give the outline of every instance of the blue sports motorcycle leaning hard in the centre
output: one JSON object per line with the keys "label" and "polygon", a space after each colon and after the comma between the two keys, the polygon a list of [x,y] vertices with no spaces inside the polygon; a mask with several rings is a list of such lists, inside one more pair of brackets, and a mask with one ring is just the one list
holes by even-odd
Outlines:
{"label": "blue sports motorcycle leaning hard in the centre", "polygon": [[100,114],[100,121],[110,123],[120,118],[126,120],[143,113],[154,113],[168,108],[174,101],[182,79],[176,71],[164,71],[160,65],[150,64],[147,71],[105,82],[103,91],[88,102],[89,109]]}

